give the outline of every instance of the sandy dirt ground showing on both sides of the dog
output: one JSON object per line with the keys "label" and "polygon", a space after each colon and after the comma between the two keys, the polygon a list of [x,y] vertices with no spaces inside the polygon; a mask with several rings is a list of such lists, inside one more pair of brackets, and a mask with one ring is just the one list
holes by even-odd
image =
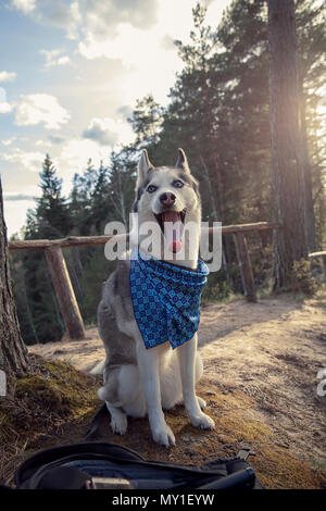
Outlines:
{"label": "sandy dirt ground showing on both sides of the dog", "polygon": [[[326,396],[317,395],[317,372],[326,369],[325,292],[303,303],[281,297],[256,304],[236,300],[208,306],[202,310],[199,346],[205,367],[199,395],[208,400],[216,431],[199,437],[180,427],[179,453],[188,452],[189,462],[198,448],[203,448],[203,457],[210,452],[213,440],[215,451],[218,443],[220,454],[229,453],[230,445],[244,441],[256,451],[252,464],[261,471],[263,483],[268,486],[272,472],[274,477],[275,470],[279,471],[274,487],[302,487],[305,476],[300,475],[300,463],[296,465],[296,483],[288,483],[292,481],[287,474],[291,457],[304,460],[305,468],[324,472]],[[30,351],[68,361],[83,371],[104,353],[95,327],[87,331],[84,341],[63,339],[30,347]],[[171,412],[170,420],[175,417]],[[139,448],[138,444],[134,447]],[[176,451],[167,458],[175,456]],[[267,458],[272,464],[266,464]]]}

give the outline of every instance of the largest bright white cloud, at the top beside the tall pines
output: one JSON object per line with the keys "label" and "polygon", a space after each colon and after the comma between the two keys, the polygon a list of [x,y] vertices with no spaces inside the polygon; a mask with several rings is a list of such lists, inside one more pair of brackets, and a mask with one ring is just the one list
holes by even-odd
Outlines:
{"label": "largest bright white cloud, at the top beside the tall pines", "polygon": [[[123,63],[121,76],[124,76],[118,90],[115,85],[111,85],[112,80],[117,79],[117,75],[112,77],[103,71],[103,78],[101,77],[108,96],[116,95],[118,104],[134,105],[136,99],[152,92],[156,101],[166,105],[175,75],[183,67],[173,41],[189,41],[192,29],[191,8],[196,1],[47,0],[38,2],[36,14],[38,20],[63,28],[67,37],[76,40],[79,55],[88,61],[102,58]],[[208,4],[208,22],[216,26],[223,9],[230,0],[202,2]],[[58,50],[43,50],[42,53],[47,68],[72,64],[70,53]],[[78,57],[76,59],[83,76],[87,63],[83,63]],[[113,65],[108,62],[103,68]],[[105,78],[110,83],[104,83]],[[86,82],[89,84],[91,79],[88,76]],[[100,102],[99,97],[92,98],[92,102],[96,101]],[[98,111],[93,112],[93,116],[96,115],[99,116]]]}

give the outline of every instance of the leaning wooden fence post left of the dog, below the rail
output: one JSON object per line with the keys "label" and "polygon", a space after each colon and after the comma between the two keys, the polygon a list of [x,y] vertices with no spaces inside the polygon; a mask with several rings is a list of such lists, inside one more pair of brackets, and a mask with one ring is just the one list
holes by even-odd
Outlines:
{"label": "leaning wooden fence post left of the dog, below the rail", "polygon": [[45,248],[52,283],[55,289],[61,314],[71,339],[85,339],[86,333],[78,303],[60,245]]}

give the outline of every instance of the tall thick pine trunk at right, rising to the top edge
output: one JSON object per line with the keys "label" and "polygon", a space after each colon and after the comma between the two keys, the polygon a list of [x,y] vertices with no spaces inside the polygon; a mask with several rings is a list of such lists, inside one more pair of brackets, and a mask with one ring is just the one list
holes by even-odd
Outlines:
{"label": "tall thick pine trunk at right, rising to the top edge", "polygon": [[304,185],[298,123],[293,0],[267,0],[274,221],[274,289],[290,284],[293,262],[306,258]]}

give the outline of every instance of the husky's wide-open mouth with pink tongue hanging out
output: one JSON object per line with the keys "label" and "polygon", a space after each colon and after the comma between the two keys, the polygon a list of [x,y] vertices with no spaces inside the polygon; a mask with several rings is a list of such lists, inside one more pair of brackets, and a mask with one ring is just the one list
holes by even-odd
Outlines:
{"label": "husky's wide-open mouth with pink tongue hanging out", "polygon": [[183,211],[163,211],[155,214],[156,221],[164,234],[166,246],[170,251],[176,253],[183,248],[181,235],[185,224],[186,210]]}

